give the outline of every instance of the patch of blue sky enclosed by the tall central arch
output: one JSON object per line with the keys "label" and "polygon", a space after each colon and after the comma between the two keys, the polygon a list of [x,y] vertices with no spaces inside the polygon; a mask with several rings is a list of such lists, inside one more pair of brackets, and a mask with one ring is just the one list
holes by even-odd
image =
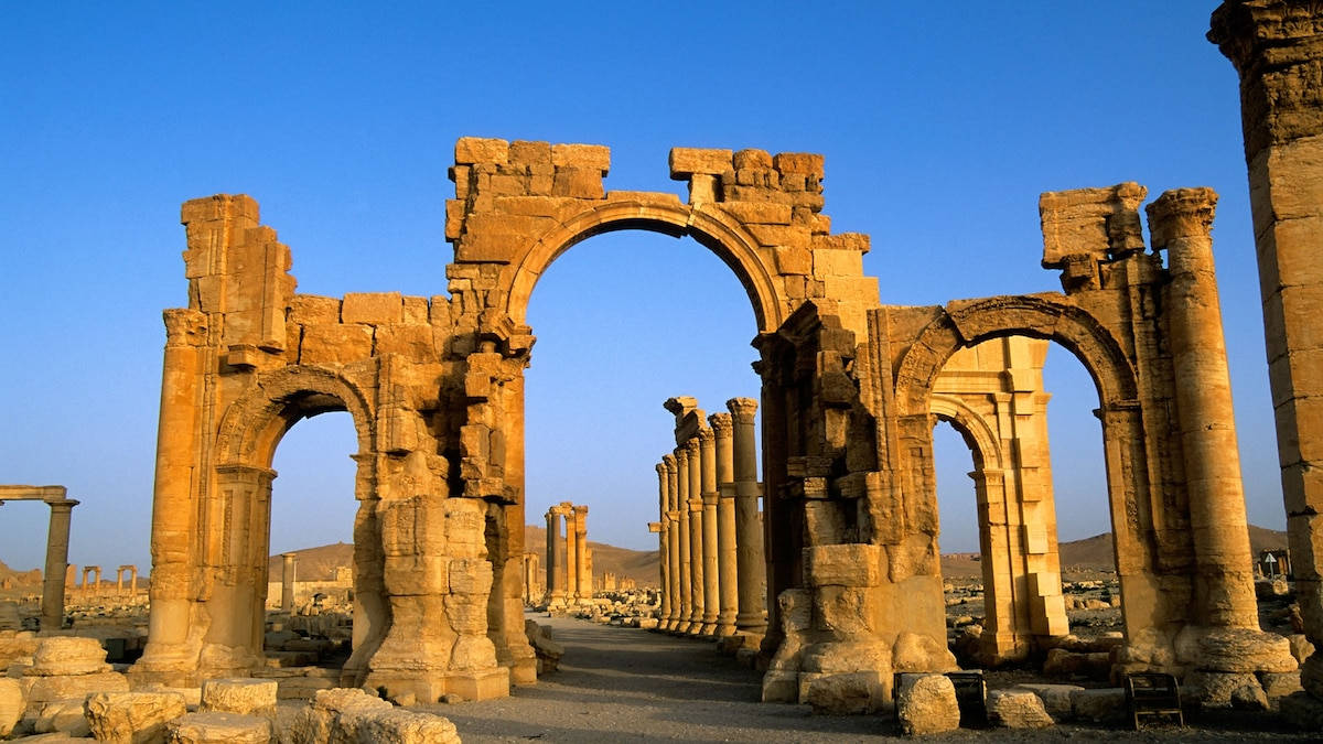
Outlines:
{"label": "patch of blue sky enclosed by the tall central arch", "polygon": [[[732,397],[758,400],[745,287],[696,240],[610,232],[540,277],[528,322],[525,520],[536,528],[552,504],[587,504],[590,541],[655,552],[654,466],[675,449],[663,401],[693,396],[712,414]],[[655,585],[656,572],[644,579]]]}

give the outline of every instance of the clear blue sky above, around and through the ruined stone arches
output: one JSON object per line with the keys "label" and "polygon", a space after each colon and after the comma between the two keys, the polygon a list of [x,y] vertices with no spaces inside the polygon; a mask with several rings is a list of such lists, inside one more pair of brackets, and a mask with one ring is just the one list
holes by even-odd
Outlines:
{"label": "clear blue sky above, around and through the ruined stone arches", "polygon": [[[835,230],[872,236],[882,302],[1058,287],[1043,191],[1221,193],[1216,253],[1250,520],[1285,524],[1237,79],[1211,1],[91,4],[0,8],[0,482],[64,483],[70,560],[148,563],[160,311],[187,302],[179,204],[249,193],[299,290],[443,294],[463,135],[611,147],[607,188],[681,191],[667,151],[823,152]],[[528,504],[591,507],[654,547],[662,401],[757,396],[753,314],[692,241],[615,233],[534,291]],[[1097,397],[1053,353],[1061,537],[1110,528]],[[939,429],[945,549],[974,549],[967,451]],[[277,453],[273,549],[349,539],[352,433]],[[41,564],[46,510],[0,507],[0,560]]]}

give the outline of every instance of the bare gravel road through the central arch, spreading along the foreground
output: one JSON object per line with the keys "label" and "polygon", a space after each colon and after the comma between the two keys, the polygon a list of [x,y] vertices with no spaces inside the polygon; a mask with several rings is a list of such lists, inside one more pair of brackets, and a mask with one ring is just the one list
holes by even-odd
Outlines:
{"label": "bare gravel road through the central arch, spreading along the foreground", "polygon": [[[546,618],[565,646],[558,671],[511,698],[427,706],[459,728],[466,744],[495,741],[868,741],[896,736],[889,716],[815,716],[807,706],[758,703],[755,671],[717,654],[710,642]],[[1318,741],[1275,716],[1226,715],[1184,729],[1143,732],[1061,725],[1046,731],[960,731],[942,741]]]}

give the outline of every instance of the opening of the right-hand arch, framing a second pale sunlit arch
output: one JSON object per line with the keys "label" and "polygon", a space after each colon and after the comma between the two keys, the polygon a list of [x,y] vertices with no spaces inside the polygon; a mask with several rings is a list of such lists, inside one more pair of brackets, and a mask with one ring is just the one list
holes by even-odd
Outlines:
{"label": "opening of the right-hand arch, framing a second pale sunlit arch", "polygon": [[[1110,547],[1102,527],[1110,527],[1110,515],[1097,396],[1078,359],[1045,339],[1021,335],[963,347],[937,377],[930,404],[934,421],[950,422],[960,436],[951,442],[934,432],[934,454],[947,624],[953,650],[964,663],[998,665],[1035,653],[1041,658],[1045,647],[1056,646],[1070,630],[1080,631],[1081,643],[1106,645],[1113,641],[1103,635],[1121,629],[1119,609],[1107,602],[1117,589],[1106,584],[1115,579],[1114,556],[1101,555],[1094,545],[1074,549],[1070,560],[1088,563],[1072,565],[1065,575],[1060,548],[1058,524],[1072,537],[1101,532],[1094,541],[1106,540]],[[962,445],[968,457],[951,451]],[[968,508],[967,491],[957,504],[950,503],[955,494],[942,487],[942,474],[950,470],[941,462],[943,455],[972,463],[975,510]],[[1056,506],[1062,495],[1056,483],[1068,486],[1065,508]],[[976,515],[972,545],[971,514]],[[970,547],[974,555],[966,552]],[[1089,596],[1077,598],[1070,589]],[[1090,617],[1077,616],[1081,622],[1072,628],[1066,610],[1077,608]]]}

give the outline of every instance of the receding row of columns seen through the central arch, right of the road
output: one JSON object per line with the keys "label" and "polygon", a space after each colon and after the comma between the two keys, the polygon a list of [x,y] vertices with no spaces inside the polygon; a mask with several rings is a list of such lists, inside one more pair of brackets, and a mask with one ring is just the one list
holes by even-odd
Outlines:
{"label": "receding row of columns seen through the central arch, right of the road", "polygon": [[675,451],[656,465],[660,628],[691,635],[747,635],[767,628],[761,488],[753,398],[704,421],[693,398],[671,398]]}

